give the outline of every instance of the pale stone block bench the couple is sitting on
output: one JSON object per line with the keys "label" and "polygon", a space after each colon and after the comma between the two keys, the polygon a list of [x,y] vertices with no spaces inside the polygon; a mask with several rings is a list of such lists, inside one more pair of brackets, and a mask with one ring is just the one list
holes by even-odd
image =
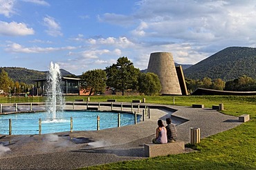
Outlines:
{"label": "pale stone block bench the couple is sitting on", "polygon": [[184,153],[183,141],[168,142],[166,144],[149,143],[144,145],[145,157],[167,156],[170,154]]}

